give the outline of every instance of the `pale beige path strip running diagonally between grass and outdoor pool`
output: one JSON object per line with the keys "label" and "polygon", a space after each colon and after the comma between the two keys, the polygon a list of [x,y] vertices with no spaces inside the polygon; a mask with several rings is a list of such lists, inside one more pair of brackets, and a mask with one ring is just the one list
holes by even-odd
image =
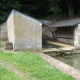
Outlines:
{"label": "pale beige path strip running diagonally between grass and outdoor pool", "polygon": [[44,58],[46,61],[48,61],[49,63],[51,63],[53,66],[59,68],[60,70],[62,70],[64,73],[70,74],[72,75],[76,80],[80,80],[80,70],[73,68],[59,60],[56,60],[46,54],[39,54],[42,58]]}

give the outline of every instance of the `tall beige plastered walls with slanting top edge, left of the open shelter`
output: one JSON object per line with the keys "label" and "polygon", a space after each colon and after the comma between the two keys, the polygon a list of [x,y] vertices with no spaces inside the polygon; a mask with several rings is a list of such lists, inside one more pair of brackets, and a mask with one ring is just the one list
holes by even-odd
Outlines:
{"label": "tall beige plastered walls with slanting top edge, left of the open shelter", "polygon": [[[8,38],[14,50],[42,50],[42,23],[13,10],[7,20]],[[11,35],[12,34],[12,35]]]}

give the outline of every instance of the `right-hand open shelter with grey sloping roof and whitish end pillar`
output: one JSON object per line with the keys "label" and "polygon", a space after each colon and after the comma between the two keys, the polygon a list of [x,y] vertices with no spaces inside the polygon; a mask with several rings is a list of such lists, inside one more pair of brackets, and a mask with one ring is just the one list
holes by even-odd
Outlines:
{"label": "right-hand open shelter with grey sloping roof and whitish end pillar", "polygon": [[80,18],[59,21],[50,27],[54,28],[56,30],[52,34],[57,41],[72,44],[75,48],[80,47]]}

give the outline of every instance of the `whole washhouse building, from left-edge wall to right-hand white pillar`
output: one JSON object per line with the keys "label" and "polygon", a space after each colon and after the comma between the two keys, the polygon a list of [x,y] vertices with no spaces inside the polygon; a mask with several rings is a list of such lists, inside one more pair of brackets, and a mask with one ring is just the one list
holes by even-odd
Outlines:
{"label": "whole washhouse building, from left-edge wall to right-hand white pillar", "polygon": [[79,48],[80,18],[49,23],[12,10],[7,21],[0,25],[0,39],[8,40],[14,51],[42,51],[42,44],[46,40]]}

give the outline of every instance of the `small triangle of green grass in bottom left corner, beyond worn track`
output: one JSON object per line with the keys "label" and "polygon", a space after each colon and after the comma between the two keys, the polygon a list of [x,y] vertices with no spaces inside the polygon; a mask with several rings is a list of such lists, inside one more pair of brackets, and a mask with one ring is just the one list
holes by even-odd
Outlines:
{"label": "small triangle of green grass in bottom left corner, beyond worn track", "polygon": [[6,68],[0,66],[0,80],[21,80],[14,73],[8,71]]}

